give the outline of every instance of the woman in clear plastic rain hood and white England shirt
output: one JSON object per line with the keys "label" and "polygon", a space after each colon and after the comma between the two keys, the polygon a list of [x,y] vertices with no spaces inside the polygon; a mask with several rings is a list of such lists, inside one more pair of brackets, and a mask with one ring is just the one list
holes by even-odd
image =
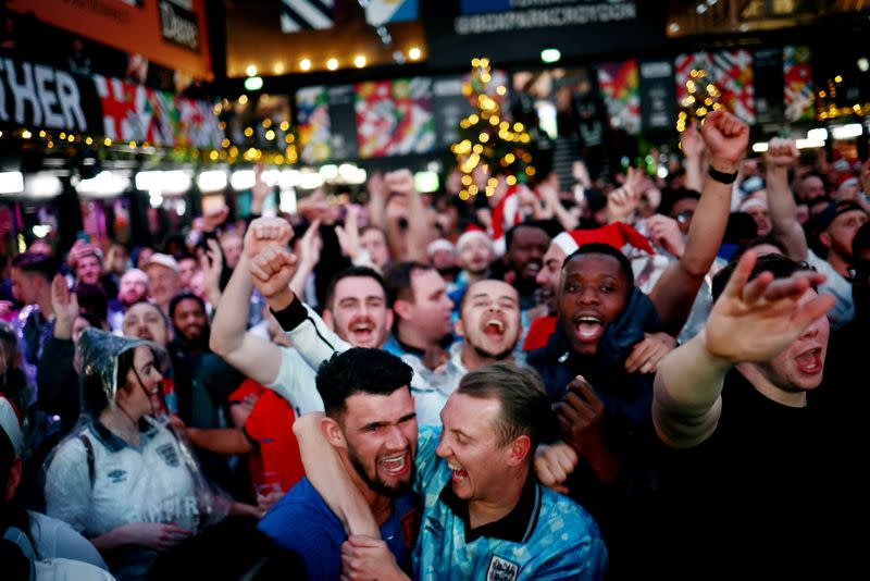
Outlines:
{"label": "woman in clear plastic rain hood and white England shirt", "polygon": [[90,419],[48,462],[46,511],[89,537],[119,579],[226,515],[162,413],[157,345],[87,329],[76,362]]}

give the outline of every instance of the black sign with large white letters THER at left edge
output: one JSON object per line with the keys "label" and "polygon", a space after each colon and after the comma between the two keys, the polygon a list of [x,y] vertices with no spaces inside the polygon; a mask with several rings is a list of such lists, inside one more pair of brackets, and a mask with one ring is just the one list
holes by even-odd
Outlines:
{"label": "black sign with large white letters THER at left edge", "polygon": [[86,133],[100,131],[99,120],[90,77],[0,58],[0,125]]}

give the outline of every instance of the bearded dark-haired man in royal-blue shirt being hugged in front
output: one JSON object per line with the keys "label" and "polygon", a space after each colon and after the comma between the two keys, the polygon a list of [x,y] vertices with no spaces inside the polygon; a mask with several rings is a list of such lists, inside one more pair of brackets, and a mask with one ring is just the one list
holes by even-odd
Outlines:
{"label": "bearded dark-haired man in royal-blue shirt being hugged in front", "polygon": [[[405,572],[410,572],[420,522],[418,499],[411,494],[418,434],[411,375],[411,368],[396,356],[359,347],[334,355],[316,375],[326,410],[319,430],[364,498],[394,564]],[[258,528],[300,554],[312,579],[338,579],[347,534],[307,479]]]}

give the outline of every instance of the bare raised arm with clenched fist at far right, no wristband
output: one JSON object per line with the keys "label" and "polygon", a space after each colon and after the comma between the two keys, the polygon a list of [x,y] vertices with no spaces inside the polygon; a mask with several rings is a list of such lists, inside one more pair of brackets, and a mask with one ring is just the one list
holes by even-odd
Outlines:
{"label": "bare raised arm with clenched fist at far right, no wristband", "polygon": [[771,139],[765,153],[768,208],[773,235],[785,246],[792,260],[806,260],[807,236],[797,221],[797,205],[788,187],[788,168],[797,164],[799,153],[791,139]]}

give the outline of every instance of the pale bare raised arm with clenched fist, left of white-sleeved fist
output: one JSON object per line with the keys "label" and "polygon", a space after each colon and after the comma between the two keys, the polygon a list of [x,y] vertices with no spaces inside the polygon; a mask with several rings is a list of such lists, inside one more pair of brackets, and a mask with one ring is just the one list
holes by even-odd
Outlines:
{"label": "pale bare raised arm with clenched fist, left of white-sleeved fist", "polygon": [[273,383],[277,378],[281,349],[277,345],[247,332],[253,290],[250,260],[269,244],[286,246],[291,235],[289,224],[279,218],[259,218],[251,222],[245,234],[245,251],[217,304],[209,339],[209,346],[214,353],[261,384]]}

